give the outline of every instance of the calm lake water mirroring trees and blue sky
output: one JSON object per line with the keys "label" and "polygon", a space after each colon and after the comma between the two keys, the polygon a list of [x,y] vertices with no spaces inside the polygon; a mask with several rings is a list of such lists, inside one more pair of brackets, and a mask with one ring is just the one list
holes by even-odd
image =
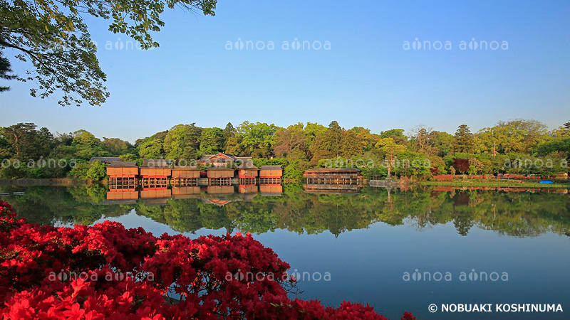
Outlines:
{"label": "calm lake water mirroring trees and blue sky", "polygon": [[[400,319],[404,310],[420,319],[570,319],[565,191],[363,188],[335,194],[306,192],[301,185],[284,186],[282,193],[235,191],[108,200],[116,194],[109,197],[103,186],[0,186],[9,193],[0,199],[33,223],[91,225],[108,219],[190,238],[251,232],[301,274],[300,298],[334,306],[344,299],[368,303],[390,319]],[[427,310],[442,303],[561,304],[564,313]]]}

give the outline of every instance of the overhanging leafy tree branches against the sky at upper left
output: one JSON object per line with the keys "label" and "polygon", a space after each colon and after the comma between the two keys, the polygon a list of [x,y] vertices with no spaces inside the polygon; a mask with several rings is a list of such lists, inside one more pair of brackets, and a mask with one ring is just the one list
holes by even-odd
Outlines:
{"label": "overhanging leafy tree branches against the sky at upper left", "polygon": [[15,58],[33,65],[34,72],[17,76],[38,84],[32,96],[61,93],[60,105],[81,105],[83,100],[101,105],[109,96],[106,75],[84,19],[112,19],[109,31],[134,38],[141,48],[155,48],[159,45],[151,33],[165,26],[165,8],[175,6],[213,16],[216,0],[0,1],[0,53],[12,48],[18,52]]}

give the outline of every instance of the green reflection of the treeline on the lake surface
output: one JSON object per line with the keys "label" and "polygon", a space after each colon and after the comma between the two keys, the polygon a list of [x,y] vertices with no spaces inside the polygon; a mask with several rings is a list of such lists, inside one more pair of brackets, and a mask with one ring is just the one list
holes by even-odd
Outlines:
{"label": "green reflection of the treeline on the lake surface", "polygon": [[139,215],[170,225],[178,232],[201,228],[266,233],[278,229],[294,233],[340,235],[368,228],[372,223],[408,223],[423,230],[453,223],[460,235],[476,225],[506,235],[532,237],[546,232],[570,234],[569,196],[556,193],[502,191],[434,191],[420,188],[401,192],[364,188],[360,193],[306,193],[299,185],[284,186],[280,197],[255,196],[214,206],[199,198],[169,199],[161,206],[98,206],[105,199],[103,186],[2,187],[3,192],[25,191],[3,197],[35,223],[91,224],[100,218],[123,215],[133,208]]}

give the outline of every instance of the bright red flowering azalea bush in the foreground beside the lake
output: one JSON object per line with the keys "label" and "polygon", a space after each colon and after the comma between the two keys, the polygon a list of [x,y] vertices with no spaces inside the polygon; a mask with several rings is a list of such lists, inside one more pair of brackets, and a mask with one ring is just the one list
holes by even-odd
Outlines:
{"label": "bright red flowering azalea bush in the foreground beside the lake", "polygon": [[55,228],[0,201],[3,319],[385,319],[368,305],[290,299],[287,270],[249,234],[157,238],[110,221]]}

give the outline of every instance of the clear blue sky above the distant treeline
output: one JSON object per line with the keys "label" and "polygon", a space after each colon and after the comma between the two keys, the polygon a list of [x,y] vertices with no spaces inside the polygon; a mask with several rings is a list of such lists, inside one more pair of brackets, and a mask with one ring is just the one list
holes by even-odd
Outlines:
{"label": "clear blue sky above the distant treeline", "polygon": [[[214,17],[167,11],[160,48],[149,51],[117,50],[134,41],[90,18],[108,102],[61,107],[11,82],[0,94],[0,126],[35,122],[131,142],[179,123],[244,120],[455,132],[532,118],[554,128],[570,121],[569,16],[569,1],[219,0]],[[415,38],[449,41],[451,50],[404,50]],[[506,41],[508,50],[461,50],[472,38]],[[227,50],[238,39],[266,48]],[[328,41],[330,50],[282,48],[295,39]]]}

